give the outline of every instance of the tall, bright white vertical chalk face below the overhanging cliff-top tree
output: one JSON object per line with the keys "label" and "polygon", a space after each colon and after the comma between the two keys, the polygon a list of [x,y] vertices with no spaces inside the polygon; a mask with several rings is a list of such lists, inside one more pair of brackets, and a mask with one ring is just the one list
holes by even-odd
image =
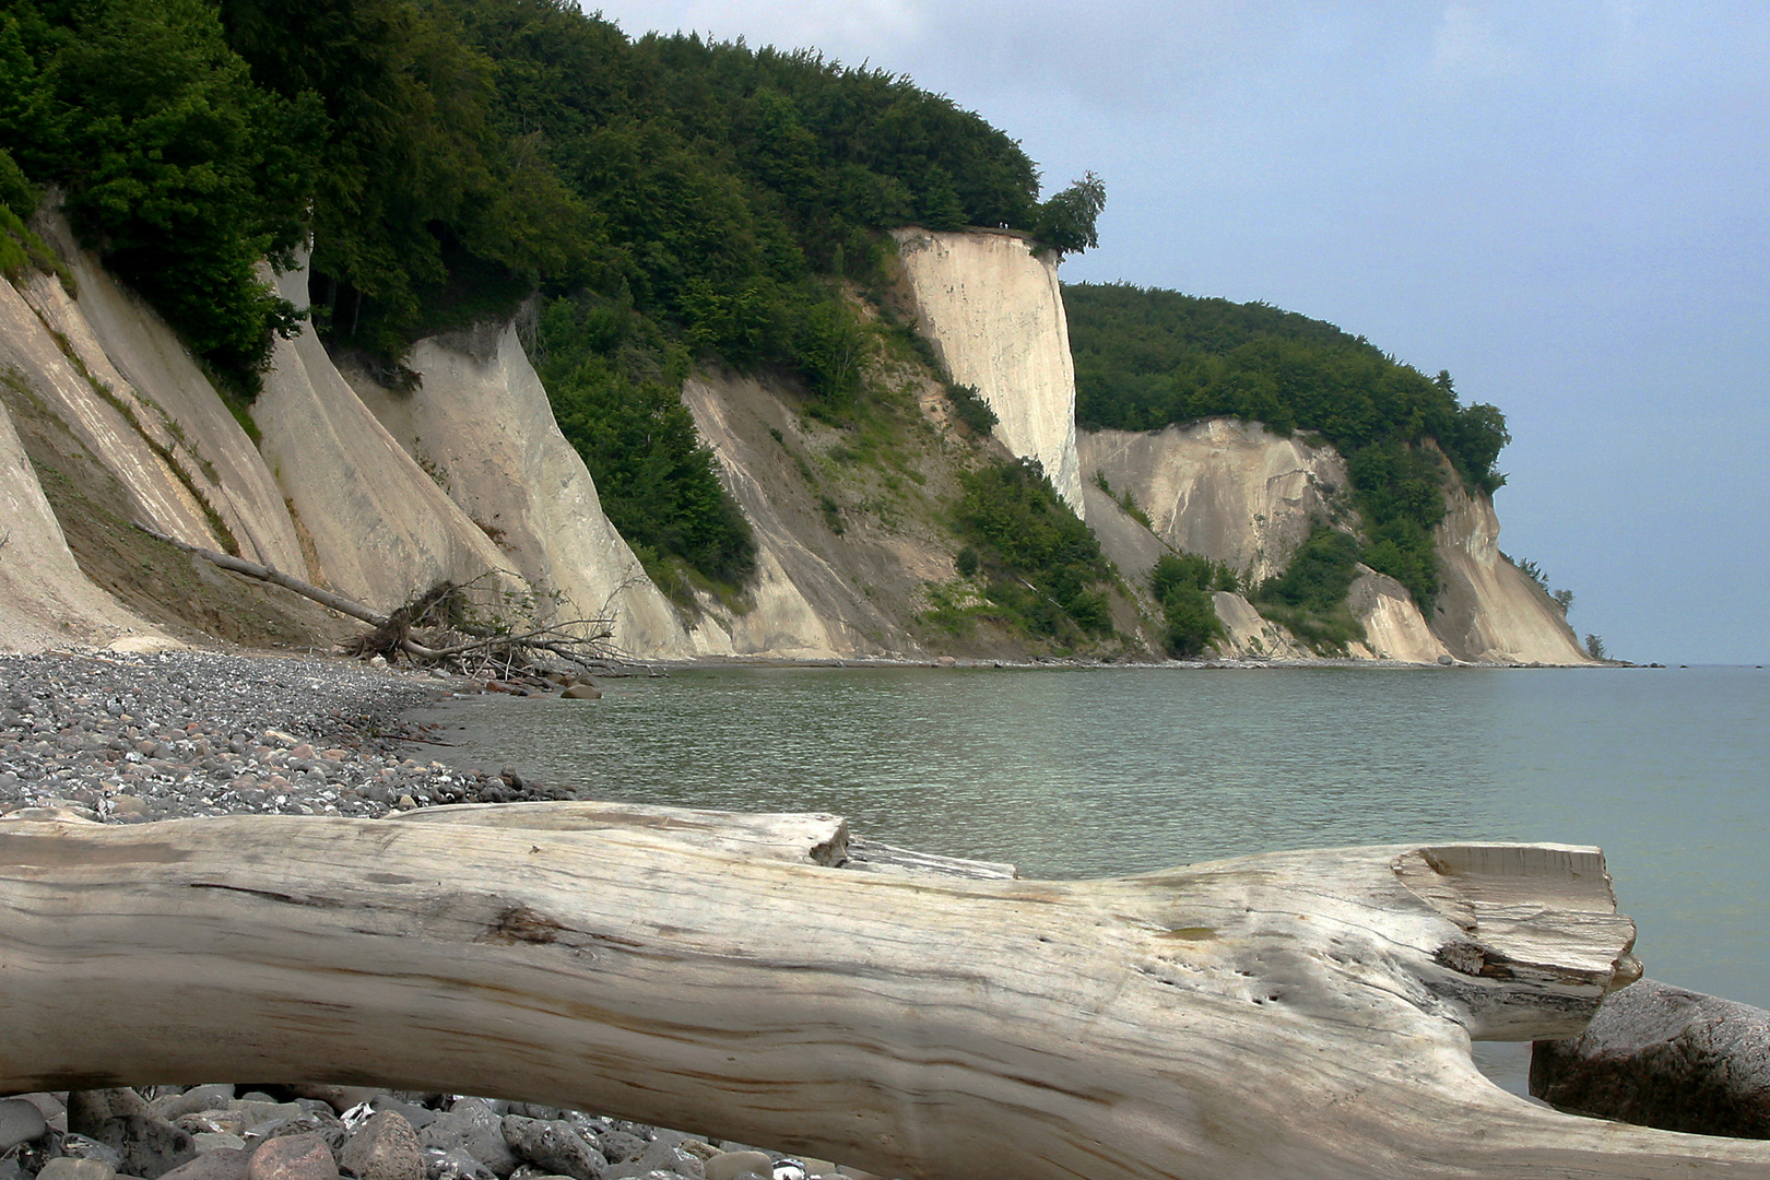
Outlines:
{"label": "tall, bright white vertical chalk face below the overhanging cliff-top tree", "polygon": [[919,331],[947,373],[975,386],[997,414],[995,435],[1035,458],[1081,513],[1076,370],[1057,260],[1018,234],[894,230]]}

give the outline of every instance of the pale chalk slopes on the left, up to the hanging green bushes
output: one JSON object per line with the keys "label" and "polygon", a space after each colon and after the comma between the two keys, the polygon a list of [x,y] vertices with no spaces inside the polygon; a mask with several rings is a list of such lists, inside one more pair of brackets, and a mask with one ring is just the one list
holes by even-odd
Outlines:
{"label": "pale chalk slopes on the left, up to the hanging green bushes", "polygon": [[[480,356],[471,347],[423,341],[414,363],[428,391],[404,403],[381,391],[405,442],[428,448],[423,455],[435,476],[382,426],[306,329],[274,343],[264,393],[251,409],[260,451],[175,333],[80,251],[65,225],[41,221],[73,269],[78,297],[55,276],[0,283],[0,377],[7,398],[30,412],[44,462],[74,474],[81,464],[103,467],[103,478],[85,472],[71,492],[99,495],[106,501],[99,508],[117,513],[112,531],[96,538],[97,548],[120,536],[117,525],[127,533],[126,522],[135,518],[188,543],[230,548],[308,577],[381,610],[439,579],[490,573],[504,589],[533,589],[543,616],[559,600],[586,614],[609,607],[618,619],[616,642],[637,655],[669,658],[699,649],[604,517],[589,472],[559,435],[506,326],[489,333],[490,347]],[[304,271],[276,276],[276,287],[306,306]],[[55,510],[28,458],[21,460],[25,449],[11,419],[5,433],[12,449],[4,456],[9,467],[0,502],[14,510],[9,520],[18,524],[0,550],[0,617],[7,619],[0,646],[152,637],[152,626],[80,573],[60,529],[51,527]],[[65,442],[55,444],[58,435]],[[78,501],[69,502],[71,511],[81,511]],[[214,579],[223,596],[241,598],[242,610],[266,605],[246,603],[255,591],[219,580],[212,570],[204,568],[198,579]],[[122,589],[156,593],[149,586]],[[168,609],[184,610],[181,621],[195,630],[212,630],[191,616],[216,614],[212,601],[196,601],[202,589]],[[273,605],[290,609],[287,601]],[[46,619],[55,623],[51,632],[42,630]],[[64,619],[69,628],[60,626]],[[308,642],[313,623],[303,621]],[[326,632],[324,623],[319,632]]]}

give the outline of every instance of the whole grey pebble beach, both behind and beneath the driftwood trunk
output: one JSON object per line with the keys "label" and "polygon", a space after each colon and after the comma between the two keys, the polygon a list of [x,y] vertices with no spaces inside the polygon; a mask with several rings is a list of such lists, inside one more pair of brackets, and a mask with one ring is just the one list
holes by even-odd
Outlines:
{"label": "whole grey pebble beach, both behind and beneath the driftwood trunk", "polygon": [[[216,651],[0,656],[0,819],[382,817],[568,798],[520,768],[451,768],[404,713],[464,681]],[[499,685],[497,688],[506,688]],[[0,1099],[0,1180],[874,1180],[543,1106],[264,1079]]]}

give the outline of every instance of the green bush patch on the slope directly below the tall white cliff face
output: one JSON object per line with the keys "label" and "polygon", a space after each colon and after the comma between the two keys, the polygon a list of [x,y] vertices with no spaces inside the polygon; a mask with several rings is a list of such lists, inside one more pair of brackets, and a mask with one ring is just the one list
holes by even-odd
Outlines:
{"label": "green bush patch on the slope directly below the tall white cliff face", "polygon": [[975,547],[963,566],[1011,621],[1060,640],[1112,633],[1101,545],[1037,460],[966,474],[959,529]]}

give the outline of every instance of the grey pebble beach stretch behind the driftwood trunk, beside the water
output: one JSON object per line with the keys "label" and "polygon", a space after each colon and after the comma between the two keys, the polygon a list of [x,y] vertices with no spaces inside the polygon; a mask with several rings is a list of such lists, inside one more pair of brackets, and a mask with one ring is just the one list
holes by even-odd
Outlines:
{"label": "grey pebble beach stretch behind the driftwood trunk, beside the water", "polygon": [[[451,683],[451,681],[450,681]],[[377,817],[437,803],[568,798],[407,757],[400,720],[448,695],[428,674],[349,660],[0,656],[0,816],[64,807],[101,823],[173,816]]]}

